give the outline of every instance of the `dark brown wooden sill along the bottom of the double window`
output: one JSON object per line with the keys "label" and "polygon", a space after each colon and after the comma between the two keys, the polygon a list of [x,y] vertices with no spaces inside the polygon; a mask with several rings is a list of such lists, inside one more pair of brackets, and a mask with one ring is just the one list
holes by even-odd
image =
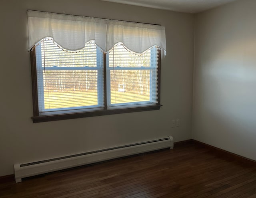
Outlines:
{"label": "dark brown wooden sill along the bottom of the double window", "polygon": [[152,110],[159,110],[161,106],[162,105],[152,105],[152,106],[146,106],[146,107],[134,107],[134,108],[127,108],[127,109],[108,109],[108,110],[101,110],[101,111],[89,111],[89,112],[83,112],[83,113],[34,116],[32,117],[32,120],[33,120],[33,123],[41,123],[41,122],[67,120],[67,119],[75,119],[75,118],[83,118],[83,117],[94,117],[94,116],[100,116],[100,115],[132,113],[132,112],[139,112],[139,111],[152,111]]}

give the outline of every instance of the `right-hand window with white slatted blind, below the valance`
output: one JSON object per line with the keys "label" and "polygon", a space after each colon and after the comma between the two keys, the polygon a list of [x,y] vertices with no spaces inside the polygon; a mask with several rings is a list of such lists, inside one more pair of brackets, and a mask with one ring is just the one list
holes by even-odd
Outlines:
{"label": "right-hand window with white slatted blind, below the valance", "polygon": [[142,54],[116,44],[107,56],[108,107],[155,105],[158,99],[158,49]]}

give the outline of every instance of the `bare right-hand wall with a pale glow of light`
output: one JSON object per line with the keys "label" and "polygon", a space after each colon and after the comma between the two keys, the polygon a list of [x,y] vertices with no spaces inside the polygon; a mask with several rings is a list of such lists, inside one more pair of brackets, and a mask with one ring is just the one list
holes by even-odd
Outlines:
{"label": "bare right-hand wall with a pale glow of light", "polygon": [[256,1],[196,15],[192,137],[256,160]]}

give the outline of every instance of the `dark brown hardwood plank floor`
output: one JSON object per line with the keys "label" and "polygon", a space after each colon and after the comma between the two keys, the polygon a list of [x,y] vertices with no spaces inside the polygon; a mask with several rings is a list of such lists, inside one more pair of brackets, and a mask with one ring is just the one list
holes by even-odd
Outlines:
{"label": "dark brown hardwood plank floor", "polygon": [[1,198],[256,198],[256,167],[195,143],[0,184]]}

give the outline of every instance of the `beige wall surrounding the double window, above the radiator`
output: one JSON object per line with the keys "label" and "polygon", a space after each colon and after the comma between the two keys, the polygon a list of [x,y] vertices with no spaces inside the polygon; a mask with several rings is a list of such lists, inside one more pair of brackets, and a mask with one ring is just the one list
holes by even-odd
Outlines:
{"label": "beige wall surrounding the double window, above the radiator", "polygon": [[[162,24],[167,57],[162,59],[158,111],[32,123],[30,55],[26,10],[41,10]],[[13,164],[66,156],[173,135],[191,138],[194,16],[98,0],[1,0],[0,176]],[[170,121],[181,126],[171,128]]]}

